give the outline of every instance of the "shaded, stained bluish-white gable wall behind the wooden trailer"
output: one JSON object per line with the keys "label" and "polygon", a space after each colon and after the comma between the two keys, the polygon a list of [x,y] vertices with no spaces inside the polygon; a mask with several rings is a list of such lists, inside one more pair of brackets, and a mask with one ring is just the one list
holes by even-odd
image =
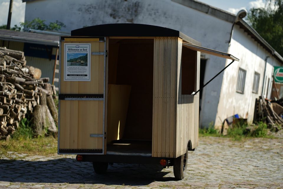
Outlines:
{"label": "shaded, stained bluish-white gable wall behind the wooden trailer", "polygon": [[[25,20],[36,17],[66,24],[63,32],[109,23],[151,24],[179,30],[202,46],[227,52],[232,23],[171,0],[37,0],[27,2]],[[231,50],[233,54],[234,51]],[[204,83],[224,68],[226,60],[209,56]],[[204,88],[200,125],[215,120],[223,73]]]}

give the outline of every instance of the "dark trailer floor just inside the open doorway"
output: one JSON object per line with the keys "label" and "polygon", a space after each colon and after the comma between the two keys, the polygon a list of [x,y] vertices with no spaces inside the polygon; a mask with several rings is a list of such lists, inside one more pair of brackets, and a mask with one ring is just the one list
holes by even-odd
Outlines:
{"label": "dark trailer floor just inside the open doorway", "polygon": [[151,156],[152,141],[113,140],[107,144],[106,154]]}

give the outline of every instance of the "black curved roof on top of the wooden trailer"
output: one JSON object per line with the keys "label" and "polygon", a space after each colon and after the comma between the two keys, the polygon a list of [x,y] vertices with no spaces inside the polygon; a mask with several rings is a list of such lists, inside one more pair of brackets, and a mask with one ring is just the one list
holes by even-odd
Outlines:
{"label": "black curved roof on top of the wooden trailer", "polygon": [[[200,45],[175,29],[147,24],[101,24],[71,31],[71,36],[85,37],[181,37],[187,42]],[[62,39],[61,39],[62,40]]]}

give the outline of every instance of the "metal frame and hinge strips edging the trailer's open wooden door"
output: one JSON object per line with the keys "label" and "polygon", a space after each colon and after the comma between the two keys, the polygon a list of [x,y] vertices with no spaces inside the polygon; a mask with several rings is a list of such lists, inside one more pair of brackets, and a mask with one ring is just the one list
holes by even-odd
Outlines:
{"label": "metal frame and hinge strips edging the trailer's open wooden door", "polygon": [[[79,37],[78,37],[79,38]],[[64,40],[62,40],[62,42],[64,42]],[[57,153],[58,154],[79,154],[79,155],[104,155],[104,149],[105,149],[105,89],[106,89],[106,37],[104,37],[104,41],[98,41],[98,42],[104,42],[104,52],[98,52],[96,54],[96,52],[92,55],[104,55],[104,73],[103,73],[103,80],[104,80],[104,86],[103,86],[103,98],[65,98],[64,100],[82,100],[82,101],[86,101],[86,100],[96,100],[96,101],[103,101],[103,134],[101,134],[101,136],[97,136],[97,137],[102,137],[103,140],[103,146],[102,146],[102,153],[59,153],[59,143],[60,143],[60,100],[58,102],[59,104],[59,108],[58,108],[58,149],[57,149]],[[59,93],[60,93],[60,83],[61,83],[61,40],[59,42]],[[94,135],[99,135],[99,134],[94,134]]]}

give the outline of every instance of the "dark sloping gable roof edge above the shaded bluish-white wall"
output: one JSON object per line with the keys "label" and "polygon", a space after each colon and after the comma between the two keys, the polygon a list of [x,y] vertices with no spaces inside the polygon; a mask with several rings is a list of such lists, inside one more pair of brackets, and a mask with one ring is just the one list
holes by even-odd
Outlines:
{"label": "dark sloping gable roof edge above the shaded bluish-white wall", "polygon": [[203,13],[209,14],[211,16],[225,20],[227,22],[233,23],[236,19],[236,15],[224,11],[222,9],[218,9],[216,7],[210,6],[200,1],[196,1],[196,0],[171,0],[171,1],[201,11]]}

